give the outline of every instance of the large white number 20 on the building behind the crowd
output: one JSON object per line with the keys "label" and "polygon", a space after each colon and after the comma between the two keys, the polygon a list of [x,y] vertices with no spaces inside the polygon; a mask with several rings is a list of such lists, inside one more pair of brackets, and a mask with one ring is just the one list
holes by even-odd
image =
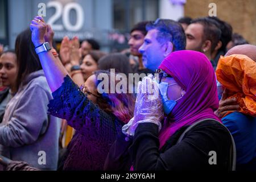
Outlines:
{"label": "large white number 20 on the building behind the crowd", "polygon": [[[47,3],[47,5],[45,3],[39,3],[38,8],[39,16],[46,16],[46,8],[55,9],[55,14],[53,14],[47,22],[55,31],[63,31],[64,28],[67,31],[79,31],[84,24],[84,11],[82,10],[82,7],[79,5],[79,3],[67,3],[67,5],[63,7],[60,2],[50,1]],[[76,12],[77,18],[75,24],[71,24],[69,20],[69,14],[72,9]],[[56,21],[61,17],[63,24],[57,24]]]}

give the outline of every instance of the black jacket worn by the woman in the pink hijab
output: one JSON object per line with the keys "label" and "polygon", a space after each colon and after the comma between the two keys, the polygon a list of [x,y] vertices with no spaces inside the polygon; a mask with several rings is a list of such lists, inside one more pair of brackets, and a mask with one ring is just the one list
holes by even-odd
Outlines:
{"label": "black jacket worn by the woman in the pink hijab", "polygon": [[[154,123],[138,125],[134,138],[126,141],[125,135],[119,135],[110,148],[105,162],[106,170],[227,170],[229,151],[232,144],[228,131],[216,121],[199,123],[185,134],[177,143],[180,135],[187,129],[181,127],[159,150],[158,126]],[[216,152],[217,164],[212,162]]]}

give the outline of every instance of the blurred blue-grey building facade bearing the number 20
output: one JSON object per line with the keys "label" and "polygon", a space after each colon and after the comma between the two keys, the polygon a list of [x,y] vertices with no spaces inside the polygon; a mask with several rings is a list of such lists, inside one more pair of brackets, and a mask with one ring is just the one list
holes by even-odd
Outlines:
{"label": "blurred blue-grey building facade bearing the number 20", "polygon": [[129,29],[158,18],[159,0],[0,0],[0,43],[14,48],[16,36],[42,15],[60,42],[67,35],[94,38],[102,48],[127,45]]}

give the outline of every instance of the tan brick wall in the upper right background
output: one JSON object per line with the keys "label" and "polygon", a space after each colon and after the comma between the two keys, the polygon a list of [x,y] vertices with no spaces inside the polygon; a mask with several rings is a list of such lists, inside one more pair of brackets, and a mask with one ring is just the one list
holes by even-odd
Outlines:
{"label": "tan brick wall in the upper right background", "polygon": [[209,3],[216,3],[218,18],[230,23],[233,32],[256,45],[256,0],[187,0],[185,16],[208,16]]}

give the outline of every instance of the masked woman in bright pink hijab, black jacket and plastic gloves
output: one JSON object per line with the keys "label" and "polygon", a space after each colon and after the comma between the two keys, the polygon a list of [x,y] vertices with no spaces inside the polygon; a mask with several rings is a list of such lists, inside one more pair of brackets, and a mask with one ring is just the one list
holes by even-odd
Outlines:
{"label": "masked woman in bright pink hijab, black jacket and plastic gloves", "polygon": [[[125,134],[110,149],[105,169],[228,170],[232,142],[214,115],[218,98],[210,61],[200,52],[176,51],[158,73],[139,84],[134,118],[123,126]],[[159,88],[159,97],[143,93],[148,84]]]}

